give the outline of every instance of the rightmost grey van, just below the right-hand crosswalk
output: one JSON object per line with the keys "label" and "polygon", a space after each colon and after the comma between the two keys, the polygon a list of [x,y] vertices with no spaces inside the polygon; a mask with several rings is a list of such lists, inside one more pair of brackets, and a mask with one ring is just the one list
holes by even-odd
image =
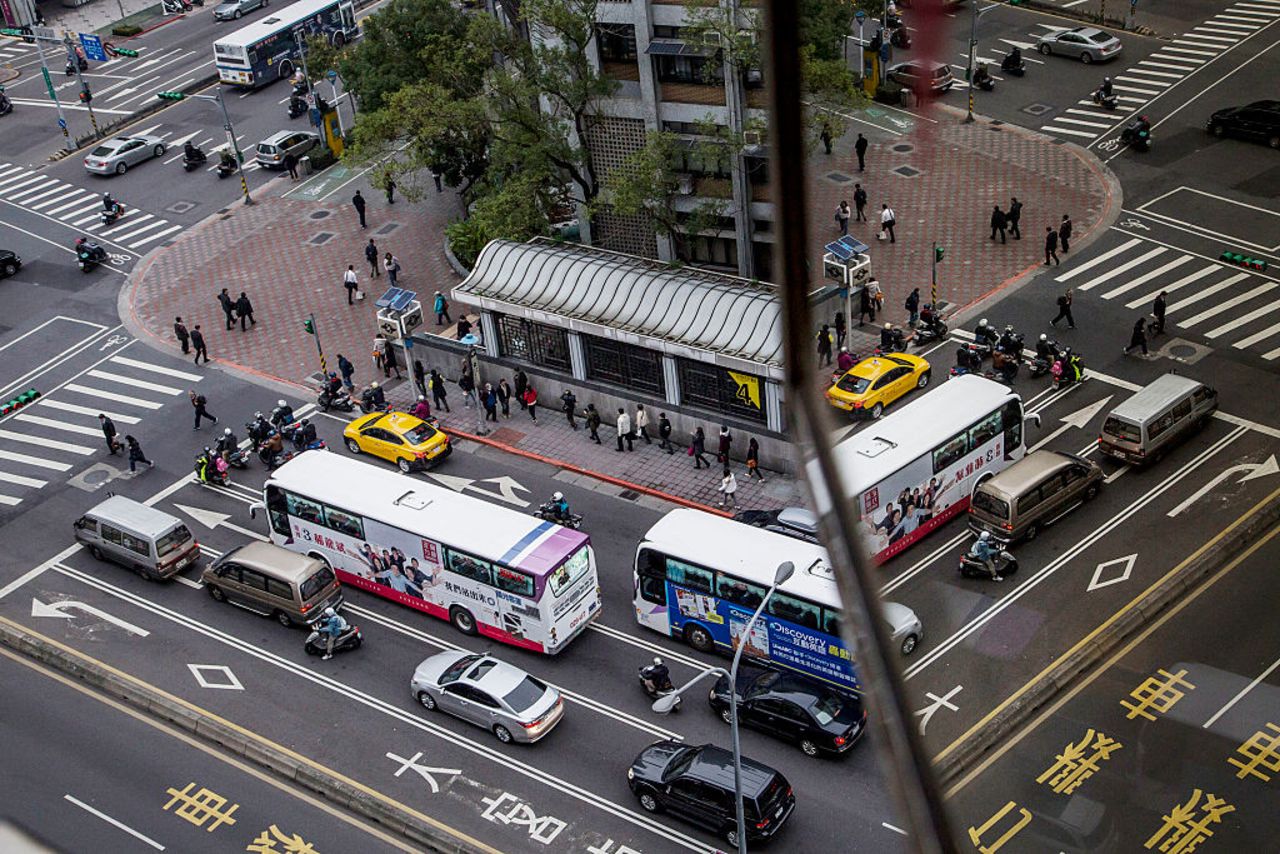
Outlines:
{"label": "rightmost grey van, just below the right-hand crosswalk", "polygon": [[1216,389],[1165,374],[1111,410],[1098,449],[1135,466],[1155,462],[1189,430],[1204,426],[1216,408]]}

